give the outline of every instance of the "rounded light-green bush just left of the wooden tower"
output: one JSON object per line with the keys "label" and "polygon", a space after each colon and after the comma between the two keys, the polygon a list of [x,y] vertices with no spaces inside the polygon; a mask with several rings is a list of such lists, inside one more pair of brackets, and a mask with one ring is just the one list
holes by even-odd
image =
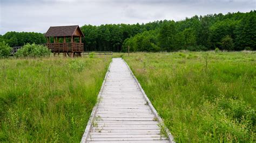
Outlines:
{"label": "rounded light-green bush just left of the wooden tower", "polygon": [[49,56],[50,49],[42,45],[26,44],[15,53],[16,57],[41,57]]}

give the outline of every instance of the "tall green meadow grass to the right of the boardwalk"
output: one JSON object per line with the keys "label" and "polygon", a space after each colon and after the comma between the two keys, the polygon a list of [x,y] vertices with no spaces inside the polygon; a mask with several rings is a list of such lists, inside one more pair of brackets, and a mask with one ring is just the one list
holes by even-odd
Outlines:
{"label": "tall green meadow grass to the right of the boardwalk", "polygon": [[177,142],[256,141],[256,53],[123,56]]}

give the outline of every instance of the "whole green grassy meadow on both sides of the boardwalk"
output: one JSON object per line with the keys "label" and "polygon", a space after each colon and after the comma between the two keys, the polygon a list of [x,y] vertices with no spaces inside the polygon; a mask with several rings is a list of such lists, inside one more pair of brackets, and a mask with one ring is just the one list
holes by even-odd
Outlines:
{"label": "whole green grassy meadow on both sides of the boardwalk", "polygon": [[[80,142],[111,56],[0,59],[0,142]],[[177,142],[256,141],[256,53],[114,53]]]}

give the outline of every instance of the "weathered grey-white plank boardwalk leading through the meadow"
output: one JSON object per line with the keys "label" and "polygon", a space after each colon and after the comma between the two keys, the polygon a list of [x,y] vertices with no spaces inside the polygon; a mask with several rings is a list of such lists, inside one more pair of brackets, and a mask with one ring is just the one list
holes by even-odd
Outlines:
{"label": "weathered grey-white plank boardwalk leading through the meadow", "polygon": [[173,142],[126,62],[113,58],[81,142]]}

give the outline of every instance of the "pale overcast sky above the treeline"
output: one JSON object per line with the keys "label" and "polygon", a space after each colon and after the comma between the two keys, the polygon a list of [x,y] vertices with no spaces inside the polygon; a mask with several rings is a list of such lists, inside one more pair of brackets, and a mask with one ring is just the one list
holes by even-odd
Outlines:
{"label": "pale overcast sky above the treeline", "polygon": [[208,13],[249,12],[256,0],[0,0],[0,34],[50,26],[134,24]]}

